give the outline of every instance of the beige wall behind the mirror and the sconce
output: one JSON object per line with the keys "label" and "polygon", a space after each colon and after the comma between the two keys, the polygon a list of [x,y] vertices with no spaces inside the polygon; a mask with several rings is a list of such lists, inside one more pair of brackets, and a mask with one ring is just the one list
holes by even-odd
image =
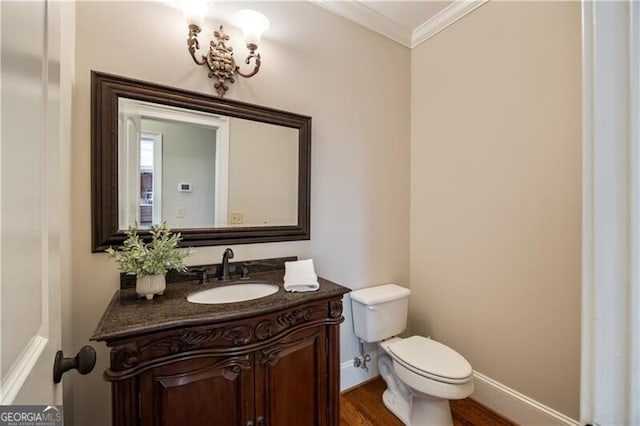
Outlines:
{"label": "beige wall behind the mirror and the sconce", "polygon": [[[224,9],[229,4],[216,3]],[[409,274],[409,51],[309,3],[244,4],[268,15],[262,69],[240,78],[231,99],[313,117],[312,240],[234,246],[236,259],[313,257],[317,272],[349,287],[407,282]],[[150,2],[78,2],[72,141],[71,345],[88,339],[118,287],[114,262],[90,243],[89,70],[214,93],[187,54],[181,14]],[[210,35],[213,23],[203,34]],[[229,27],[242,52],[240,35]],[[205,45],[206,43],[202,43]],[[219,262],[200,248],[192,264]],[[348,312],[346,312],[349,314]],[[349,316],[349,315],[347,315]],[[357,351],[349,320],[343,359]],[[65,377],[70,425],[110,424],[102,343],[88,376]]]}

